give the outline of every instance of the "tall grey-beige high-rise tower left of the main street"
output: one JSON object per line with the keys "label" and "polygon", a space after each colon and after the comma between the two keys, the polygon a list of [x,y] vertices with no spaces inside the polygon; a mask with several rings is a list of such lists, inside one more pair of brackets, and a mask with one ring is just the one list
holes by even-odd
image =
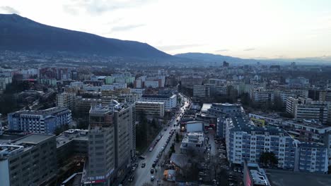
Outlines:
{"label": "tall grey-beige high-rise tower left of the main street", "polygon": [[116,184],[129,171],[135,152],[133,111],[132,104],[115,100],[108,106],[91,107],[83,184]]}

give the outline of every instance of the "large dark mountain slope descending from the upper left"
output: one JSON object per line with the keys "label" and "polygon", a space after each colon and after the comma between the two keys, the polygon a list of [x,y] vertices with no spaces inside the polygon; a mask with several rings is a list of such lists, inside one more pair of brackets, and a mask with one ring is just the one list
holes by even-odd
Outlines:
{"label": "large dark mountain slope descending from the upper left", "polygon": [[175,58],[146,43],[100,37],[86,32],[43,25],[17,14],[0,14],[0,50]]}

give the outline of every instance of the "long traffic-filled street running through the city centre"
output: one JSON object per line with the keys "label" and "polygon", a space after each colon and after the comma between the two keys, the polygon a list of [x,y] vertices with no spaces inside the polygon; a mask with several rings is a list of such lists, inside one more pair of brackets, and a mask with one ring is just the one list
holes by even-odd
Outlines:
{"label": "long traffic-filled street running through the city centre", "polygon": [[[182,97],[182,100],[186,100],[186,99],[184,99],[184,97]],[[183,108],[185,108],[189,104],[190,104],[189,102],[185,101],[184,106],[182,106],[182,108],[180,109],[180,113],[184,114]],[[146,158],[144,160],[139,159],[139,161],[138,161],[139,166],[134,173],[134,180],[133,180],[133,182],[131,182],[130,185],[141,186],[145,182],[152,182],[151,181],[152,175],[155,176],[155,180],[153,180],[153,182],[152,182],[153,185],[157,185],[157,180],[162,180],[163,173],[161,172],[161,167],[158,166],[158,164],[163,161],[162,158],[163,158],[164,154],[168,154],[170,146],[173,142],[173,140],[170,140],[168,145],[166,145],[167,144],[166,141],[167,141],[168,137],[170,136],[170,133],[169,133],[170,130],[175,129],[177,131],[179,129],[179,125],[176,127],[173,127],[173,125],[177,124],[176,120],[180,121],[180,113],[175,117],[175,119],[170,121],[170,127],[168,127],[166,131],[165,130],[161,131],[161,134],[163,134],[163,136],[162,136],[161,140],[153,148],[153,151],[149,151],[149,148],[148,148],[147,151],[144,154],[142,154],[142,156],[145,156]],[[172,139],[174,139],[174,137],[175,137],[175,133],[174,133]],[[155,142],[156,142],[156,139],[153,140],[152,144],[154,144]],[[150,144],[149,147],[151,147],[152,144]],[[157,158],[158,153],[161,151],[161,149],[164,145],[166,145],[166,147],[163,151],[163,155],[158,160],[158,163],[156,166],[157,172],[154,172],[153,174],[151,174],[151,168],[152,168],[153,161]],[[141,168],[141,163],[146,163],[146,166],[144,168]]]}

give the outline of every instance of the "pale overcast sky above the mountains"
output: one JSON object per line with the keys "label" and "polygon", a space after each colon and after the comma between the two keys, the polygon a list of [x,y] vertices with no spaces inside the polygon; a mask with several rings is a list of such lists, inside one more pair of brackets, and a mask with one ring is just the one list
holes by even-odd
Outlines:
{"label": "pale overcast sky above the mountains", "polygon": [[169,54],[331,56],[331,0],[1,0],[0,13]]}

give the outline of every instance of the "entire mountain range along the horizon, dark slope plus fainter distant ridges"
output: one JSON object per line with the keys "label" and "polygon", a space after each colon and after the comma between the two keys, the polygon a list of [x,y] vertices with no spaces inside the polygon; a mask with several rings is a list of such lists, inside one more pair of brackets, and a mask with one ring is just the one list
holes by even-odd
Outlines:
{"label": "entire mountain range along the horizon, dark slope plus fainter distant ridges", "polygon": [[79,56],[96,54],[124,58],[152,58],[187,64],[194,62],[221,64],[223,61],[234,64],[255,64],[257,61],[267,64],[289,62],[329,64],[331,62],[331,56],[277,59],[236,58],[206,53],[185,53],[172,56],[146,43],[100,37],[86,32],[52,27],[17,14],[0,14],[0,50],[61,52],[61,54]]}

